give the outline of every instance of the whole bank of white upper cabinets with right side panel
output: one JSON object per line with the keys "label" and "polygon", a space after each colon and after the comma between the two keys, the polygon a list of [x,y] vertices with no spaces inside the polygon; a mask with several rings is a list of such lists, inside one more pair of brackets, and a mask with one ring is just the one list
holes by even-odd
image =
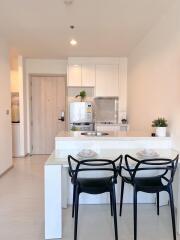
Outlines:
{"label": "whole bank of white upper cabinets with right side panel", "polygon": [[127,111],[127,58],[69,57],[69,87],[94,87],[94,97],[119,97],[119,119]]}

